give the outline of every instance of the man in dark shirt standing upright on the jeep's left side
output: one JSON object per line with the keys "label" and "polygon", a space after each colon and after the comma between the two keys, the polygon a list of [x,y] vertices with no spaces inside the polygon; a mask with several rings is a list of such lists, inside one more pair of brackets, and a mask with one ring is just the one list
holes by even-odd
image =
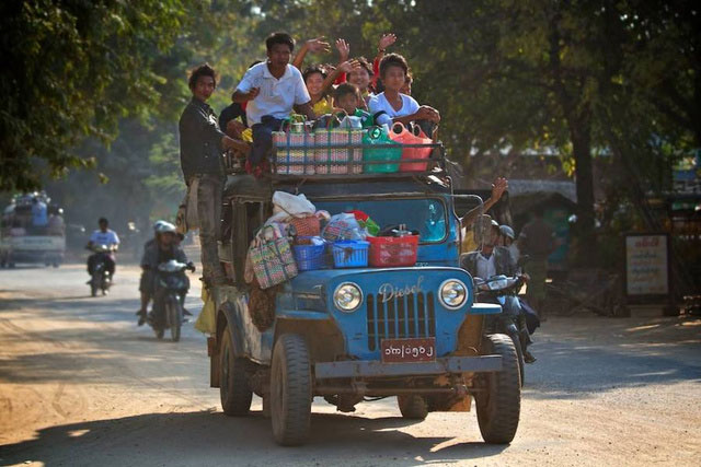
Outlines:
{"label": "man in dark shirt standing upright on the jeep's left side", "polygon": [[[221,219],[221,195],[226,174],[222,153],[226,150],[248,154],[249,144],[226,136],[207,100],[217,86],[215,70],[207,63],[194,69],[189,75],[193,98],[180,117],[180,161],[187,184],[188,201],[193,190],[197,195],[197,221],[202,246],[205,283],[227,283],[219,262],[217,240]],[[189,207],[189,202],[188,202]]]}

